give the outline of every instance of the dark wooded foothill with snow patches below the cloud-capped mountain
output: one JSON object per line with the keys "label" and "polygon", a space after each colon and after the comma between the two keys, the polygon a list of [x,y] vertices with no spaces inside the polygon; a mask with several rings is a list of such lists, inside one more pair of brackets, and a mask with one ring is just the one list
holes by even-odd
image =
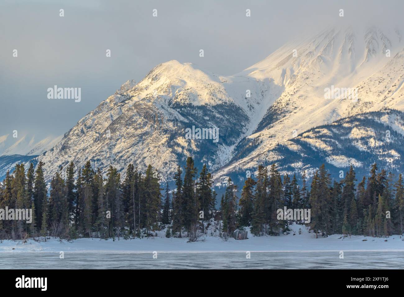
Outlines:
{"label": "dark wooded foothill with snow patches below the cloud-capped mountain", "polygon": [[[265,166],[276,163],[282,175],[305,171],[309,177],[320,165],[326,164],[331,178],[336,180],[341,178],[341,170],[344,176],[350,165],[361,180],[368,174],[369,166],[377,163],[379,168],[398,176],[404,171],[403,142],[404,113],[384,109],[341,118],[301,132],[261,155],[260,163]],[[255,173],[250,172],[252,176]],[[246,179],[246,170],[239,169],[229,175],[241,183]]]}

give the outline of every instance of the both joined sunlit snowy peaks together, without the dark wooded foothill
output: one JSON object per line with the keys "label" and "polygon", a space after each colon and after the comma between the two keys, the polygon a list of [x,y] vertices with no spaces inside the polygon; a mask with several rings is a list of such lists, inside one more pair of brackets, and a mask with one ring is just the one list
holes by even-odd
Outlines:
{"label": "both joined sunlit snowy peaks together, without the dark wooded foothill", "polygon": [[[276,161],[271,152],[311,128],[383,108],[403,110],[403,65],[400,31],[374,27],[295,40],[232,76],[169,61],[138,84],[126,82],[38,159],[46,163],[47,178],[70,161],[91,160],[103,172],[109,165],[124,172],[128,163],[141,169],[151,163],[170,180],[177,163],[192,155],[220,182]],[[326,88],[348,88],[356,96],[326,96]],[[219,128],[218,141],[187,139],[192,126]],[[365,151],[369,142],[363,145]]]}

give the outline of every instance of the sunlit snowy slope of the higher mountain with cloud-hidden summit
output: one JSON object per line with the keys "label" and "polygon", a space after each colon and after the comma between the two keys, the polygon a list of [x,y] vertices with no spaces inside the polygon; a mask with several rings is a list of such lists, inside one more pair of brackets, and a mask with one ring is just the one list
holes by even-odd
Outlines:
{"label": "sunlit snowy slope of the higher mountain with cloud-hidden summit", "polygon": [[[388,37],[387,37],[388,36]],[[385,50],[391,56],[386,56]],[[297,56],[293,56],[296,49]],[[217,180],[238,168],[255,168],[277,144],[312,127],[341,117],[383,108],[404,108],[404,43],[401,33],[370,28],[364,33],[326,30],[305,42],[292,42],[241,75],[273,79],[284,92],[247,136],[233,159],[217,173]],[[326,98],[326,88],[351,88],[357,97]],[[251,149],[251,143],[256,143]],[[247,146],[247,147],[246,147]],[[248,148],[249,146],[249,148]],[[269,161],[269,160],[266,160]]]}

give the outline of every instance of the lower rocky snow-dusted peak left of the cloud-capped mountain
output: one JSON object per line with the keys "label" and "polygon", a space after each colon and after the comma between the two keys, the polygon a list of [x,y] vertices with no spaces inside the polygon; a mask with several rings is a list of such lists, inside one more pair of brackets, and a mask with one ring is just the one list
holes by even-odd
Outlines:
{"label": "lower rocky snow-dusted peak left of the cloud-capped mountain", "polygon": [[[246,98],[246,90],[253,100]],[[124,84],[39,159],[46,163],[46,178],[70,161],[87,160],[104,173],[110,164],[124,171],[128,163],[140,169],[151,163],[163,180],[170,179],[188,155],[198,167],[207,163],[218,169],[279,92],[271,82],[219,76],[169,61],[139,84]],[[192,126],[219,128],[218,141],[186,139],[185,129]]]}

